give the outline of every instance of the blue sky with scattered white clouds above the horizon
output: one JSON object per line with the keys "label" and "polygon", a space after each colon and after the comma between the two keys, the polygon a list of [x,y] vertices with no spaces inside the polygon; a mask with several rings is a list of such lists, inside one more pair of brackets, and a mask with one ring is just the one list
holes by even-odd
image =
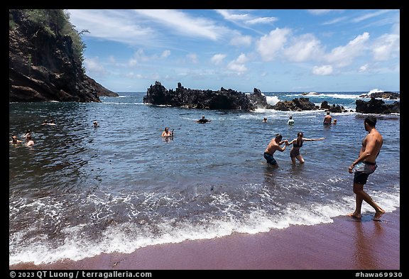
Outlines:
{"label": "blue sky with scattered white clouds above the horizon", "polygon": [[239,92],[400,90],[394,9],[67,10],[87,75],[114,92],[156,81]]}

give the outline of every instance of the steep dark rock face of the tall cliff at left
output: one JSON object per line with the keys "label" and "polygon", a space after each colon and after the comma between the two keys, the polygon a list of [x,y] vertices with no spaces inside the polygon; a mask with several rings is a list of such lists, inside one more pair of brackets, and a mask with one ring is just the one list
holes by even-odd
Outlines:
{"label": "steep dark rock face of the tall cliff at left", "polygon": [[39,25],[23,10],[9,10],[9,16],[9,102],[101,102],[99,96],[119,96],[84,74],[72,37],[60,33],[65,22]]}

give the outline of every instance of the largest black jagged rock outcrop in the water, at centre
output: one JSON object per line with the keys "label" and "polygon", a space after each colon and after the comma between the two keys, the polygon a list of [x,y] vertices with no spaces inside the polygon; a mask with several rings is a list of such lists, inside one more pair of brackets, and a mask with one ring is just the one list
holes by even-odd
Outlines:
{"label": "largest black jagged rock outcrop in the water, at centre", "polygon": [[160,82],[148,88],[143,97],[145,104],[184,106],[196,109],[237,109],[253,111],[258,107],[268,107],[266,96],[254,89],[253,94],[244,94],[232,89],[218,91],[185,88],[178,82],[178,88],[166,89]]}

